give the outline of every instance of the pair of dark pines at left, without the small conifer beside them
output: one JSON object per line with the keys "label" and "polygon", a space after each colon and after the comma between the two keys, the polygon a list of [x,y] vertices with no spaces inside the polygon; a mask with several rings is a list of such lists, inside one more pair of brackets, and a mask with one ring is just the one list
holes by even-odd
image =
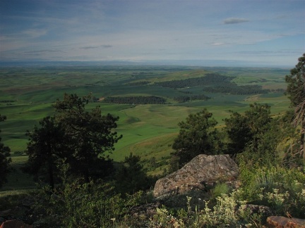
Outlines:
{"label": "pair of dark pines at left, without the small conifer beside them", "polygon": [[64,100],[54,104],[54,116],[47,116],[28,131],[25,168],[37,177],[45,177],[51,186],[56,182],[58,167],[68,164],[69,173],[90,178],[104,177],[112,170],[112,161],[105,153],[114,151],[114,144],[121,139],[114,129],[118,117],[102,115],[100,107],[86,110],[91,96],[78,97],[64,94]]}

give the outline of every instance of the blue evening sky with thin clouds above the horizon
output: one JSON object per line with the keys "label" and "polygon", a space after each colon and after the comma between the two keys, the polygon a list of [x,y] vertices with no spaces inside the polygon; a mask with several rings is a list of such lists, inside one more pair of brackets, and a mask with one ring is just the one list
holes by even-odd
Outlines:
{"label": "blue evening sky with thin clouds above the horizon", "polygon": [[0,61],[296,65],[304,0],[1,0]]}

